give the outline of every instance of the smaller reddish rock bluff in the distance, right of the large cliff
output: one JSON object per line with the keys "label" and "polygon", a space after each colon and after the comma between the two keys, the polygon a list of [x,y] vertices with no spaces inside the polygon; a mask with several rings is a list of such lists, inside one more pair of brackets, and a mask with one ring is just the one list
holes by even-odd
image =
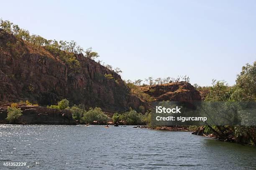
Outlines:
{"label": "smaller reddish rock bluff in the distance, right of the large cliff", "polygon": [[200,93],[188,82],[173,82],[164,85],[141,87],[141,90],[154,97],[155,101],[200,101]]}

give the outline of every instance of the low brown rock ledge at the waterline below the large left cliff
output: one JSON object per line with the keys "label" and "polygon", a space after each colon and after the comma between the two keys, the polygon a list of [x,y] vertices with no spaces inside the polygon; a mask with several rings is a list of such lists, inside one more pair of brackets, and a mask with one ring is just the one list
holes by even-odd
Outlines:
{"label": "low brown rock ledge at the waterline below the large left cliff", "polygon": [[[72,113],[69,110],[57,110],[41,106],[19,105],[22,110],[15,124],[37,124],[37,125],[75,125]],[[0,123],[8,123],[7,106],[0,107]]]}

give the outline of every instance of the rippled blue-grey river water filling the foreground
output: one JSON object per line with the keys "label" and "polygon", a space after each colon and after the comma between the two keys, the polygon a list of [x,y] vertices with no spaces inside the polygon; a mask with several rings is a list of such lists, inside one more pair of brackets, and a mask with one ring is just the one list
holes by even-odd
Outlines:
{"label": "rippled blue-grey river water filling the foreground", "polygon": [[0,169],[6,161],[26,162],[35,170],[256,167],[256,147],[187,132],[132,126],[0,125],[0,137]]}

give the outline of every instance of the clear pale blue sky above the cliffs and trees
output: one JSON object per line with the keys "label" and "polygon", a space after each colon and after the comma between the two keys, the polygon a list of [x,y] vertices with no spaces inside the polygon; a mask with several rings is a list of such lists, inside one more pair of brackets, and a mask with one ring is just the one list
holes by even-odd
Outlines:
{"label": "clear pale blue sky above the cliffs and trees", "polygon": [[46,39],[75,40],[123,79],[189,75],[233,85],[256,59],[256,1],[1,1],[0,18]]}

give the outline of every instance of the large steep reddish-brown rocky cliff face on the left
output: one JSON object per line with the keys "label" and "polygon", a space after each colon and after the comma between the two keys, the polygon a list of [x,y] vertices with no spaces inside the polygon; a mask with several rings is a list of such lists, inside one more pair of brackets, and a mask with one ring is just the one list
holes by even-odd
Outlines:
{"label": "large steep reddish-brown rocky cliff face on the left", "polygon": [[[123,112],[146,106],[129,90],[120,75],[99,63],[76,55],[81,68],[75,74],[58,56],[34,52],[26,42],[0,29],[0,102],[29,100],[39,105],[67,98],[73,104]],[[113,79],[104,75],[111,74]]]}

